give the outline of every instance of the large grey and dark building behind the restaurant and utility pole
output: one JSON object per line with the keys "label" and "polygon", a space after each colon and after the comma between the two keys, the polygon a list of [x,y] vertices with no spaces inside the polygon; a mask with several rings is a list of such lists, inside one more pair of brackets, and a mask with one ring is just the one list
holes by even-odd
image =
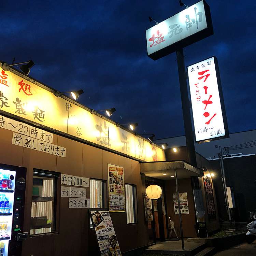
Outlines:
{"label": "large grey and dark building behind the restaurant and utility pole", "polygon": [[[156,140],[169,144],[166,155],[174,155],[174,159],[186,158],[186,139],[185,136],[171,137]],[[219,148],[215,145],[221,145],[223,150],[223,162],[225,168],[227,186],[233,188],[235,206],[231,209],[232,217],[235,222],[246,222],[249,213],[256,207],[256,198],[252,191],[256,187],[256,130],[230,133],[230,138],[216,140],[208,143],[195,143],[197,154],[197,165],[200,168],[206,167],[214,173],[212,178],[215,187],[215,193],[218,204],[218,213],[221,222],[228,222],[228,215],[225,205],[221,167],[219,162]],[[177,153],[173,148],[177,148]],[[203,156],[201,162],[198,155]]]}

